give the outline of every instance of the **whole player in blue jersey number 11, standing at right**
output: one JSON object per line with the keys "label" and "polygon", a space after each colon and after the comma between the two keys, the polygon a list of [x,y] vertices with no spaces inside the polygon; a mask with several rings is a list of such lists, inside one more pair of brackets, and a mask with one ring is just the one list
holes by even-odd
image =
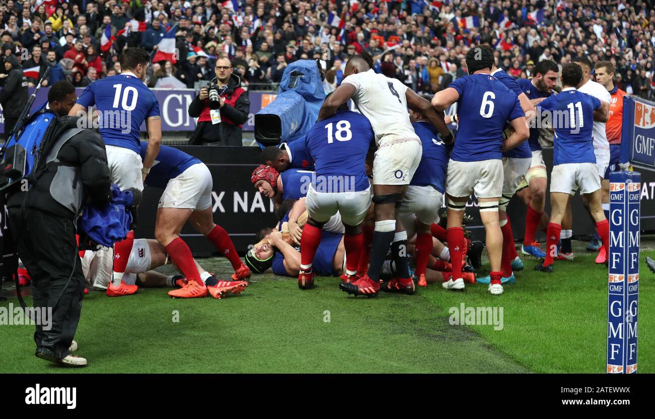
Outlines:
{"label": "whole player in blue jersey number 11, standing at right", "polygon": [[[553,271],[553,258],[557,256],[557,242],[561,233],[561,222],[565,217],[571,195],[580,188],[589,201],[591,216],[603,246],[607,252],[609,224],[603,213],[601,178],[595,164],[591,122],[607,118],[609,104],[576,90],[582,80],[582,68],[578,64],[565,64],[562,68],[562,91],[538,104],[542,112],[551,111],[563,123],[555,126],[553,155],[553,176],[550,184],[550,224],[546,235],[546,258],[534,269]],[[554,118],[554,116],[553,116]],[[555,119],[552,119],[555,121]]]}

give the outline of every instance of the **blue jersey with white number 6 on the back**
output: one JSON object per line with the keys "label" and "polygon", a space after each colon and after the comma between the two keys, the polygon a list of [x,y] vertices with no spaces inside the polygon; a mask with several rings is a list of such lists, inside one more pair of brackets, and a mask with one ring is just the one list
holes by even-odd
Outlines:
{"label": "blue jersey with white number 6 on the back", "polygon": [[502,159],[503,130],[508,122],[525,116],[516,94],[489,74],[460,77],[449,87],[459,94],[459,123],[451,159]]}

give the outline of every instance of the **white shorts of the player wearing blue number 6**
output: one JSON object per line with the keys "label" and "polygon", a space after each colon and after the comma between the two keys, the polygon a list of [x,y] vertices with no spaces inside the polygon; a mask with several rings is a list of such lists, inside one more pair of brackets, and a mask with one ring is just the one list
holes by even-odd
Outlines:
{"label": "white shorts of the player wearing blue number 6", "polygon": [[500,198],[502,195],[502,160],[448,161],[446,193],[451,197]]}

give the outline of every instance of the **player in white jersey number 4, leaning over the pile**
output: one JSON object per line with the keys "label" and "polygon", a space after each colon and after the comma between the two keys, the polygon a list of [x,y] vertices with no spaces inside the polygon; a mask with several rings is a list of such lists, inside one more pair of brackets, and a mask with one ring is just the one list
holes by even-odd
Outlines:
{"label": "player in white jersey number 4, leaning over the pile", "polygon": [[407,233],[397,219],[397,207],[419,167],[422,146],[409,121],[407,108],[421,112],[438,129],[445,142],[452,140],[452,134],[443,122],[443,115],[438,115],[428,100],[401,81],[375,73],[373,58],[368,52],[352,56],[344,75],[341,86],[323,103],[318,121],[331,117],[339,106],[352,99],[360,113],[371,122],[378,150],[373,161],[375,229],[369,269],[361,279],[341,283],[339,287],[349,294],[376,296],[390,245],[398,277],[410,277]]}

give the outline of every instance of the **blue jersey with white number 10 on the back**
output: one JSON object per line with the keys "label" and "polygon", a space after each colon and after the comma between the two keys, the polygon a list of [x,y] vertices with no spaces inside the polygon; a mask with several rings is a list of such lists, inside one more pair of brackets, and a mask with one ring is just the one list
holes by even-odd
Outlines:
{"label": "blue jersey with white number 10 on the back", "polygon": [[94,81],[77,98],[77,104],[100,111],[100,135],[107,146],[140,151],[139,134],[146,118],[159,115],[155,94],[132,73]]}

